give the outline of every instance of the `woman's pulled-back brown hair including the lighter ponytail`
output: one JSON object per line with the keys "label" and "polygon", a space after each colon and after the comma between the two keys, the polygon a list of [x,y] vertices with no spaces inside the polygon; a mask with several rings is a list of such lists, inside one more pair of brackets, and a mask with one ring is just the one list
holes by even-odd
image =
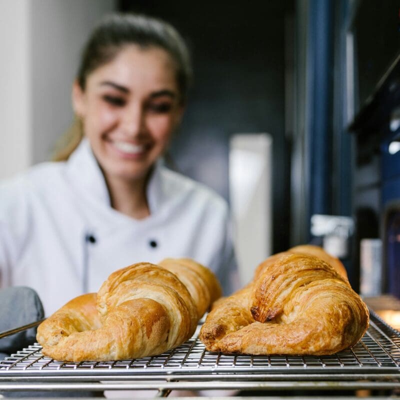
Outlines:
{"label": "woman's pulled-back brown hair including the lighter ponytail", "polygon": [[[187,46],[169,23],[138,14],[112,13],[106,15],[92,30],[80,57],[76,80],[82,90],[88,75],[98,67],[112,61],[127,45],[141,48],[164,49],[176,65],[176,82],[180,101],[184,103],[191,82],[191,62]],[[66,160],[79,144],[83,132],[81,122],[75,118],[72,126],[60,140],[53,159]]]}

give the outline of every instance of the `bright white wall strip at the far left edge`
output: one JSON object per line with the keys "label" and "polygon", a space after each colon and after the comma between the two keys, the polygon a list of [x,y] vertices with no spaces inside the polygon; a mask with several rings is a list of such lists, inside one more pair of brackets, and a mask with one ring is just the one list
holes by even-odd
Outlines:
{"label": "bright white wall strip at the far left edge", "polygon": [[31,162],[29,1],[0,1],[0,178]]}

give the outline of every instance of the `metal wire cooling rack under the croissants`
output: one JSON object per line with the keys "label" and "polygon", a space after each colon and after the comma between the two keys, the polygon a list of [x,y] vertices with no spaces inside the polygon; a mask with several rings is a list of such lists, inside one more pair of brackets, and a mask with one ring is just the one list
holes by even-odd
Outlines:
{"label": "metal wire cooling rack under the croissants", "polygon": [[60,362],[31,345],[0,361],[0,390],[400,388],[400,332],[373,313],[359,343],[329,356],[208,352],[199,327],[171,351],[131,360]]}

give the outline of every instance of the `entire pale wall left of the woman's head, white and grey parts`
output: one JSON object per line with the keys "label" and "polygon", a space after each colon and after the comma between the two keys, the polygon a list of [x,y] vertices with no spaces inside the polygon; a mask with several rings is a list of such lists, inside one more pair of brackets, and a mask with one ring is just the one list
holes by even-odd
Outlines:
{"label": "entire pale wall left of the woman's head, white and grey parts", "polygon": [[0,1],[0,178],[49,159],[72,120],[81,46],[114,0]]}

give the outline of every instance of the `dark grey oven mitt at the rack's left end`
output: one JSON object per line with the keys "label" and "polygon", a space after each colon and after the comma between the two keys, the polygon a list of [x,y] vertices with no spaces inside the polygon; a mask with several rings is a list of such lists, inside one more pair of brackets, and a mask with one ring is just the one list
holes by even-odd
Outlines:
{"label": "dark grey oven mitt at the rack's left end", "polygon": [[[30,287],[0,289],[0,304],[0,332],[35,322],[44,316],[40,298]],[[35,327],[0,339],[0,359],[35,341]]]}

